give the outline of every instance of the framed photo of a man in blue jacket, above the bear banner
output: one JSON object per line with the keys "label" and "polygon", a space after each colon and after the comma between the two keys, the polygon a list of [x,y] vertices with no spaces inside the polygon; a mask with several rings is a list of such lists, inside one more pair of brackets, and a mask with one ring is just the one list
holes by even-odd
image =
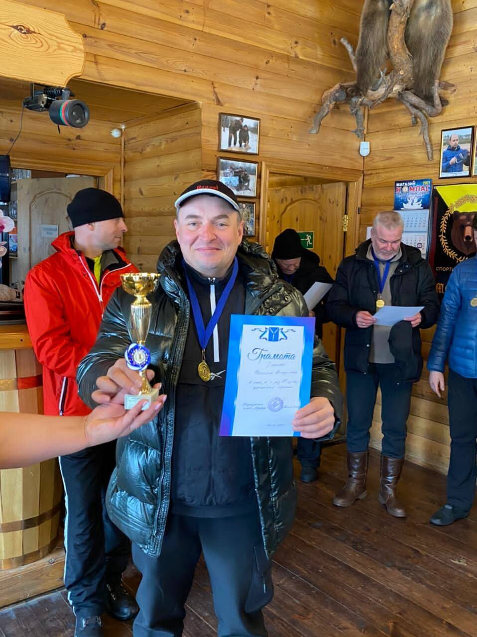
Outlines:
{"label": "framed photo of a man in blue jacket, above the bear banner", "polygon": [[441,167],[439,177],[471,175],[474,127],[451,128],[441,132]]}

